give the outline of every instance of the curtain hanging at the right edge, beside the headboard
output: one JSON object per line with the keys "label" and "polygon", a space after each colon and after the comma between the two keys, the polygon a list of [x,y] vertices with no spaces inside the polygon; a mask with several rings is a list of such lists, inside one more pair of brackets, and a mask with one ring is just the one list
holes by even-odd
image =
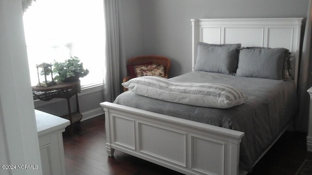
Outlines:
{"label": "curtain hanging at the right edge, beside the headboard", "polygon": [[299,97],[299,115],[295,119],[295,129],[306,132],[308,130],[309,116],[309,93],[307,90],[312,85],[312,69],[310,61],[312,59],[311,52],[311,30],[312,30],[312,0],[309,0],[309,8],[307,13],[306,28],[304,33],[302,55],[299,68],[298,97]]}

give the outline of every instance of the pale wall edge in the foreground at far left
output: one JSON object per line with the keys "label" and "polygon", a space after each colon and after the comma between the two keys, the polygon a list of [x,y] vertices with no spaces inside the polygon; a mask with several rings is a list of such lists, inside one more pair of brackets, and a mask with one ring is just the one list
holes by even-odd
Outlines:
{"label": "pale wall edge in the foreground at far left", "polygon": [[0,0],[0,163],[39,170],[0,169],[1,175],[42,174],[21,8],[20,0]]}

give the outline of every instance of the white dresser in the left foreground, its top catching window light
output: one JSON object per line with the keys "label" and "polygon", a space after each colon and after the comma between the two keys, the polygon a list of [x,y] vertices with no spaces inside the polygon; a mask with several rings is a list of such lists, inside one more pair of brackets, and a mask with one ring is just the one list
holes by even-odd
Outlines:
{"label": "white dresser in the left foreground, its top catching window light", "polygon": [[35,110],[43,175],[66,175],[62,132],[69,120]]}

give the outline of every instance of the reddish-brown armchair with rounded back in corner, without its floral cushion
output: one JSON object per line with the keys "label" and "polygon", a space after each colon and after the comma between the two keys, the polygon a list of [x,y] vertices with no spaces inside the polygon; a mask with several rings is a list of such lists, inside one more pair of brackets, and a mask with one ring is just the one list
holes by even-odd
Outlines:
{"label": "reddish-brown armchair with rounded back in corner, without its floral cushion", "polygon": [[[122,82],[127,82],[131,78],[137,77],[135,66],[144,66],[144,65],[163,65],[164,67],[164,78],[168,78],[168,73],[170,70],[170,60],[169,58],[165,56],[160,56],[160,55],[141,55],[141,56],[136,56],[133,58],[130,58],[127,62],[127,70],[128,70],[128,76],[124,77]],[[127,88],[123,88],[124,91],[127,91]]]}

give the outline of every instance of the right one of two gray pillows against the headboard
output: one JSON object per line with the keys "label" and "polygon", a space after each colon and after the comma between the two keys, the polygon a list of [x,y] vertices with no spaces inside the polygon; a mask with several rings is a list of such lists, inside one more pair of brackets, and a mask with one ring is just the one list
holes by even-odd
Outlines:
{"label": "right one of two gray pillows against the headboard", "polygon": [[238,59],[237,76],[285,79],[285,65],[288,56],[285,48],[243,48]]}

